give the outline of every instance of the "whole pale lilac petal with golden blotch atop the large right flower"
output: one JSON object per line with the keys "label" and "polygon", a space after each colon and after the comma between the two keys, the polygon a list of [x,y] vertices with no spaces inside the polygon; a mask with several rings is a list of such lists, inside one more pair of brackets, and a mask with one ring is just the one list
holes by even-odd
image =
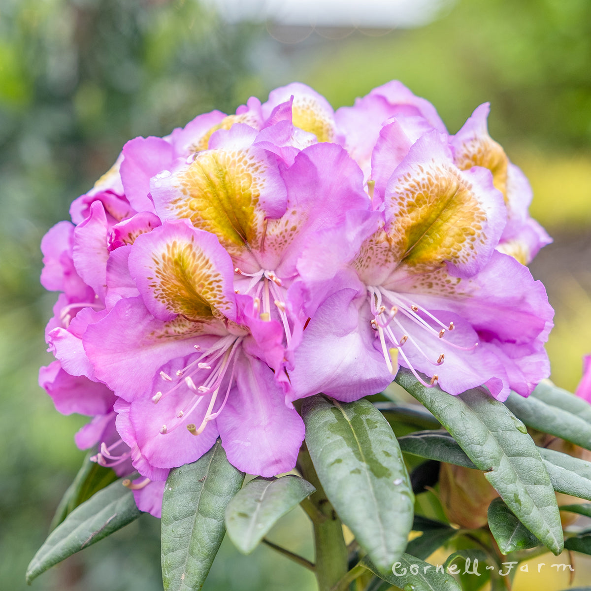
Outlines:
{"label": "whole pale lilac petal with golden blotch atop the large right flower", "polygon": [[492,253],[505,225],[488,171],[462,173],[437,132],[411,148],[388,181],[385,230],[395,258],[416,272],[449,261],[468,274]]}

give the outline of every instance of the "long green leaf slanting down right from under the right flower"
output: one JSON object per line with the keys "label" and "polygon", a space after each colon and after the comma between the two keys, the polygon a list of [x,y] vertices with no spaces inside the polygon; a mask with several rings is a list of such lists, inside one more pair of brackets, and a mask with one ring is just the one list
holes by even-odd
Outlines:
{"label": "long green leaf slanting down right from under the right flower", "polygon": [[544,462],[525,426],[483,388],[450,396],[426,388],[410,371],[396,381],[422,402],[527,528],[554,554],[563,548],[556,495]]}

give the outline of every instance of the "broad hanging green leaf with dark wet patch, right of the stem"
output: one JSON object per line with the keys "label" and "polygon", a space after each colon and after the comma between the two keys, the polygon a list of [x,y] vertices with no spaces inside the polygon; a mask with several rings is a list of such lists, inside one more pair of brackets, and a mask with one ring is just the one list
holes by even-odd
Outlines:
{"label": "broad hanging green leaf with dark wet patch, right of the stem", "polygon": [[302,414],[324,492],[369,557],[391,568],[407,545],[414,495],[388,421],[366,400],[322,395],[307,398]]}

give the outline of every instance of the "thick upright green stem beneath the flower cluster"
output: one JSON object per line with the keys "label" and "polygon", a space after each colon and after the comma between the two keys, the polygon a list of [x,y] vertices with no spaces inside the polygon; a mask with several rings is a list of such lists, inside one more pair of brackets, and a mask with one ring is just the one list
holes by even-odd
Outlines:
{"label": "thick upright green stem beneath the flower cluster", "polygon": [[320,484],[306,444],[300,450],[298,467],[302,476],[316,488],[316,492],[310,495],[316,511],[307,511],[314,526],[316,581],[319,591],[330,591],[337,587],[348,570],[342,524]]}

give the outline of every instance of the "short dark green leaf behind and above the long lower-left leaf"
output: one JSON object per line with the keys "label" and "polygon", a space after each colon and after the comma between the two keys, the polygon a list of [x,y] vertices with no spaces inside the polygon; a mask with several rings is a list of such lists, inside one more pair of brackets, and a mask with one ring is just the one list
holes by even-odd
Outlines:
{"label": "short dark green leaf behind and above the long lower-left leaf", "polygon": [[72,513],[78,505],[87,501],[95,492],[102,490],[105,486],[109,486],[118,479],[118,476],[111,468],[105,468],[99,466],[96,462],[90,462],[90,457],[93,455],[94,452],[86,454],[76,478],[64,492],[56,513],[51,519],[49,531],[55,530],[66,519],[68,514]]}

